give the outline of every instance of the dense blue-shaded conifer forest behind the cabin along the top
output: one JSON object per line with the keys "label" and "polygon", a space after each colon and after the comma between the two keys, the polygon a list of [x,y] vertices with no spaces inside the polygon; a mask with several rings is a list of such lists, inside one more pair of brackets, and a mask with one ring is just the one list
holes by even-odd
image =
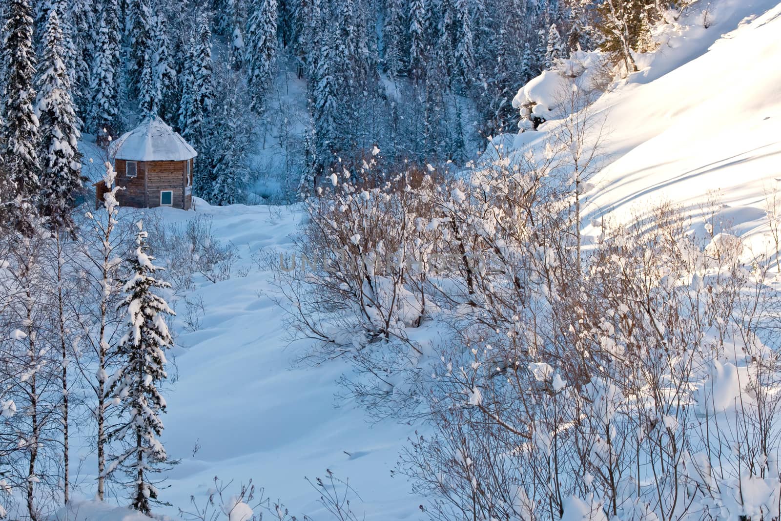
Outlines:
{"label": "dense blue-shaded conifer forest behind the cabin along the top", "polygon": [[[62,62],[56,76],[66,80],[74,130],[105,143],[159,114],[200,152],[195,193],[221,203],[241,198],[255,142],[290,123],[275,119],[289,104],[280,95],[280,71],[305,80],[308,99],[308,116],[299,122],[308,130],[282,145],[286,157],[294,156],[284,164],[288,187],[299,177],[307,186],[339,159],[355,161],[374,146],[394,161],[462,162],[485,137],[514,130],[515,91],[570,51],[598,45],[634,70],[632,53],[652,45],[650,28],[676,4],[40,0],[27,5],[33,24],[22,27],[17,3],[4,16],[9,72],[2,85],[9,92],[34,95],[19,75],[31,78],[36,56],[44,58],[55,12]],[[9,60],[20,66],[7,68]],[[37,131],[30,100],[5,99],[4,146],[30,147],[38,139],[26,135]],[[234,119],[228,125],[227,113]],[[235,145],[213,148],[226,142]],[[11,162],[20,166],[8,168],[20,186],[16,204],[24,205],[42,166],[29,153],[17,156]]]}

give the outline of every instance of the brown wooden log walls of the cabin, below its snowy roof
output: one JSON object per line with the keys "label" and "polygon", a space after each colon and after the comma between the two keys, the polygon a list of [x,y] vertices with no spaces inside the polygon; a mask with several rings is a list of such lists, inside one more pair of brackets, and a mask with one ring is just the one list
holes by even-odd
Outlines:
{"label": "brown wooden log walls of the cabin, below its snowy roof", "polygon": [[[160,192],[171,191],[173,208],[190,209],[192,196],[185,197],[187,161],[137,161],[136,177],[127,177],[125,159],[116,159],[114,168],[116,185],[124,187],[124,190],[117,194],[119,205],[155,208],[160,205]],[[96,190],[96,198],[103,191],[105,187]],[[98,199],[96,204],[99,202],[102,202],[102,198]]]}

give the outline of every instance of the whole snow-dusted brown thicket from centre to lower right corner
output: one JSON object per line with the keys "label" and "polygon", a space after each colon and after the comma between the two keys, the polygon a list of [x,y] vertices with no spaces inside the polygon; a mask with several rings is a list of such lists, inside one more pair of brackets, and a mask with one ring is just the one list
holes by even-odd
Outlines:
{"label": "whole snow-dusted brown thicket from centre to lower right corner", "polygon": [[334,173],[298,249],[326,260],[280,269],[291,325],[374,413],[430,420],[398,472],[431,519],[777,516],[768,262],[665,205],[583,244],[601,123],[569,92],[549,134],[440,186]]}

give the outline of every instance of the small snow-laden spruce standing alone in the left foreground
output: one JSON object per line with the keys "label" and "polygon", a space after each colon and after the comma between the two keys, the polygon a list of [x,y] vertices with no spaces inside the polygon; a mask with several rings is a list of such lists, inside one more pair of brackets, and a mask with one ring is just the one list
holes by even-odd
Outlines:
{"label": "small snow-laden spruce standing alone in the left foreground", "polygon": [[166,380],[166,349],[173,344],[165,316],[174,312],[155,293],[170,284],[155,279],[161,268],[148,255],[147,232],[141,221],[137,228],[136,249],[127,259],[130,276],[123,284],[127,296],[121,307],[127,312],[127,332],[117,346],[122,362],[109,383],[109,391],[121,401],[122,414],[109,437],[121,441],[123,451],[112,457],[106,475],[122,469],[128,477],[125,486],[130,491],[130,506],[149,514],[151,503],[157,500],[150,475],[172,463],[159,441],[163,430],[160,413],[165,412],[166,401],[158,386]]}

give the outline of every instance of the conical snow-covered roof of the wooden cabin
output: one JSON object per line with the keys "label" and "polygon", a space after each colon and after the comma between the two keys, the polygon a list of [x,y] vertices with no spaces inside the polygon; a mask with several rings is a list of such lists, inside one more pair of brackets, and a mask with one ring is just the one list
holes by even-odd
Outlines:
{"label": "conical snow-covered roof of the wooden cabin", "polygon": [[185,161],[198,152],[159,116],[145,118],[111,145],[114,159],[128,161]]}

